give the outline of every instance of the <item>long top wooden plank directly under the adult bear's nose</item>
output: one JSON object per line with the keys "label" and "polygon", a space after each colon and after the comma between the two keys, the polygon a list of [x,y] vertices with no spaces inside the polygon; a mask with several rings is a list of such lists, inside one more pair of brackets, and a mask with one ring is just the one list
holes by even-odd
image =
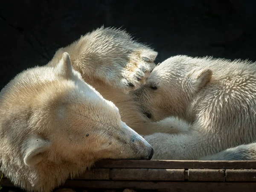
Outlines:
{"label": "long top wooden plank directly under the adult bear's nose", "polygon": [[256,161],[101,160],[97,168],[256,169]]}

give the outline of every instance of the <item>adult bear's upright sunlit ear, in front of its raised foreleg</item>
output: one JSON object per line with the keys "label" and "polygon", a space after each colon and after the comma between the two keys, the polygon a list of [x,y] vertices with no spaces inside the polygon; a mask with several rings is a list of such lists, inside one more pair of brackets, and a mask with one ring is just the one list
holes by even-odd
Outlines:
{"label": "adult bear's upright sunlit ear, in front of its raised foreleg", "polygon": [[67,52],[64,52],[62,54],[61,61],[57,65],[57,71],[59,75],[64,76],[67,79],[71,78],[73,71],[70,61],[70,55]]}

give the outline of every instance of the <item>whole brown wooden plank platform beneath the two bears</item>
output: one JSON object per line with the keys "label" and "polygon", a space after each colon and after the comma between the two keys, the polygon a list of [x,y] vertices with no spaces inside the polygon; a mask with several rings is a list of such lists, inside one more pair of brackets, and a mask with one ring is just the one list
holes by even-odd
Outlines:
{"label": "whole brown wooden plank platform beneath the two bears", "polygon": [[[3,189],[13,187],[3,178]],[[60,188],[75,191],[256,192],[256,161],[103,160]]]}

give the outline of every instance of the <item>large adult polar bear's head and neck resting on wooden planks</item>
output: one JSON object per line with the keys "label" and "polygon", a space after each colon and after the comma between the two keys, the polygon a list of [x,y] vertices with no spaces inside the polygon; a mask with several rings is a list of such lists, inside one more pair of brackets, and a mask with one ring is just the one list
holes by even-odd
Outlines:
{"label": "large adult polar bear's head and neck resting on wooden planks", "polygon": [[64,52],[0,92],[0,171],[27,191],[50,192],[96,160],[151,159],[153,149],[118,108],[85,83]]}

